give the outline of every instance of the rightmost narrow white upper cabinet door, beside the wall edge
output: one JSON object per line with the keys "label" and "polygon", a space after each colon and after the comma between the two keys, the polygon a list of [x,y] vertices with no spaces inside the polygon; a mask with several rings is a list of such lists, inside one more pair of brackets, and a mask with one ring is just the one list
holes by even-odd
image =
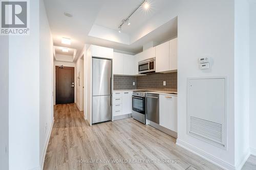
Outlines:
{"label": "rightmost narrow white upper cabinet door, beside the wall edge", "polygon": [[170,59],[169,59],[169,70],[175,70],[177,69],[177,58],[178,58],[178,45],[177,45],[177,38],[174,38],[170,40],[170,48],[169,48],[169,53],[170,53]]}

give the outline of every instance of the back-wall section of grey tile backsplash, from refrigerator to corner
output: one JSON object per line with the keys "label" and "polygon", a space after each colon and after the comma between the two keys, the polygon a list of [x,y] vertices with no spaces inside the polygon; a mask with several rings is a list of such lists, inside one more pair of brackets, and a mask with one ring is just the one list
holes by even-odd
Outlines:
{"label": "back-wall section of grey tile backsplash, from refrigerator to corner", "polygon": [[[135,85],[133,85],[135,82]],[[136,89],[135,76],[114,76],[113,77],[114,90]]]}

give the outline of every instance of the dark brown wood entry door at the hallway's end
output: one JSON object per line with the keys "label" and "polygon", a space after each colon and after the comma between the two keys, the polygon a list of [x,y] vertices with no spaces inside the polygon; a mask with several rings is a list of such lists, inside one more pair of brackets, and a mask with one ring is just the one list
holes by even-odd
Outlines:
{"label": "dark brown wood entry door at the hallway's end", "polygon": [[56,66],[56,104],[75,102],[74,67]]}

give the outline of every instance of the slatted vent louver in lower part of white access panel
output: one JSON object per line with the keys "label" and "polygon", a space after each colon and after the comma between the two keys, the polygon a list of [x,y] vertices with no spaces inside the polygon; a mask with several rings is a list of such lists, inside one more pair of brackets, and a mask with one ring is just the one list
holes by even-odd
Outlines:
{"label": "slatted vent louver in lower part of white access panel", "polygon": [[222,143],[222,125],[190,116],[190,133]]}

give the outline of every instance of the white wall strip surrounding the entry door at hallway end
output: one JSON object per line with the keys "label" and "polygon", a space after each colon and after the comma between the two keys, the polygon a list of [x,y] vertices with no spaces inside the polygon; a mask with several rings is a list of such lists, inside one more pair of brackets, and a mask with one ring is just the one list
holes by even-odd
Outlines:
{"label": "white wall strip surrounding the entry door at hallway end", "polygon": [[[54,61],[53,62],[53,103],[56,104],[56,66],[66,66],[66,67],[76,67],[76,63],[74,62],[66,62],[66,61]],[[75,68],[75,79],[76,79],[76,68]],[[76,87],[76,81],[75,81]],[[75,88],[75,102],[76,102],[76,88]]]}

